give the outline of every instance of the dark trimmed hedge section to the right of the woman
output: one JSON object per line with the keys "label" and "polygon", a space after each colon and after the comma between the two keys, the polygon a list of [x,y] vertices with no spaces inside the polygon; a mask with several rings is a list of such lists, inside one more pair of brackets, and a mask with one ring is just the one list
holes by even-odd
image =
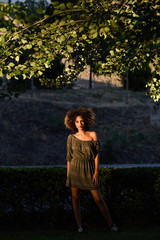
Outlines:
{"label": "dark trimmed hedge section to the right of the woman", "polygon": [[101,168],[101,187],[117,221],[160,220],[160,168]]}

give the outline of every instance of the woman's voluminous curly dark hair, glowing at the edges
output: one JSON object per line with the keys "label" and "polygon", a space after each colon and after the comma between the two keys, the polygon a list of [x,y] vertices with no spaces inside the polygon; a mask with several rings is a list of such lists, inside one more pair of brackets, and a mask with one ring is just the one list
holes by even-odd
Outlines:
{"label": "woman's voluminous curly dark hair, glowing at the edges", "polygon": [[75,120],[78,116],[83,118],[85,131],[88,131],[92,127],[95,119],[95,114],[91,108],[79,107],[77,110],[70,110],[65,116],[64,124],[73,132],[77,132],[78,130],[75,126]]}

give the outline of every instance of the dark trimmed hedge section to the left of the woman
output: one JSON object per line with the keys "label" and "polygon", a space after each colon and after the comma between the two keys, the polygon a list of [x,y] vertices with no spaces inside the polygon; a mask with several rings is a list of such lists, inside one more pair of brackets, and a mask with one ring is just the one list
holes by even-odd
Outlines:
{"label": "dark trimmed hedge section to the left of the woman", "polygon": [[[65,204],[69,204],[63,168],[1,168],[0,218],[15,221],[54,225],[61,221]],[[15,221],[13,221],[15,220]]]}

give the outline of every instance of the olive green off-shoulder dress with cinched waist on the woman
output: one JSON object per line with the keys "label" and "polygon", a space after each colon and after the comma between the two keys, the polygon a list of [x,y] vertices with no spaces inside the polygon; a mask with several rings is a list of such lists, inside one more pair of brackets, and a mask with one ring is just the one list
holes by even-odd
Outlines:
{"label": "olive green off-shoulder dress with cinched waist on the woman", "polygon": [[83,141],[72,134],[67,139],[67,161],[70,162],[67,187],[95,190],[99,187],[92,182],[95,171],[95,157],[99,152],[99,141]]}

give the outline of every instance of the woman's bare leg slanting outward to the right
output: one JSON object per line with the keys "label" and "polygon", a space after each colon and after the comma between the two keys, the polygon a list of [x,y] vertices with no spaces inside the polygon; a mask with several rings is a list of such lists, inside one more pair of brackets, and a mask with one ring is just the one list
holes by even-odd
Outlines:
{"label": "woman's bare leg slanting outward to the right", "polygon": [[108,208],[102,198],[100,191],[99,190],[90,190],[90,192],[94,198],[94,201],[96,202],[97,206],[99,207],[102,215],[104,216],[108,226],[111,227],[113,225],[113,222],[111,220]]}

